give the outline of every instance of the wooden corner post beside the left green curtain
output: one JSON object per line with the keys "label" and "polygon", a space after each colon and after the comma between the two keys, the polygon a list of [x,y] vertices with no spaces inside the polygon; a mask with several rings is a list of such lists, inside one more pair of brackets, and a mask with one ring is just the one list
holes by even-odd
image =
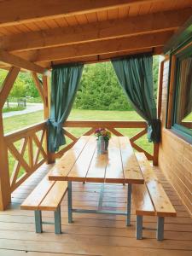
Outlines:
{"label": "wooden corner post beside the left green curtain", "polygon": [[[49,77],[43,76],[43,91],[44,91],[44,119],[49,118],[49,109],[50,109],[50,93],[49,93]],[[45,149],[48,155],[47,164],[55,163],[55,154],[51,154],[48,150],[48,131],[46,131],[46,142]]]}

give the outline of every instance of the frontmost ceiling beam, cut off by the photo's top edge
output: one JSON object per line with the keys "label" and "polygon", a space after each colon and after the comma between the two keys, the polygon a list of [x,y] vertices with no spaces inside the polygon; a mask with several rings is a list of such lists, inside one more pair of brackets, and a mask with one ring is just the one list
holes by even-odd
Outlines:
{"label": "frontmost ceiling beam, cut off by the photo's top edge", "polygon": [[0,26],[47,20],[66,15],[80,15],[160,0],[2,0]]}

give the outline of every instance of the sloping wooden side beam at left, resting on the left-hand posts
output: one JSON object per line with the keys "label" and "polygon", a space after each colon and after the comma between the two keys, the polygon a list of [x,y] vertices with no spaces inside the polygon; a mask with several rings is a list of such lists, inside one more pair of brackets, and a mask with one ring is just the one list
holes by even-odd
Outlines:
{"label": "sloping wooden side beam at left, resting on the left-hand posts", "polygon": [[0,49],[0,61],[10,64],[11,66],[20,67],[36,73],[44,73],[45,69],[30,61],[26,61],[19,56],[12,55],[5,50]]}

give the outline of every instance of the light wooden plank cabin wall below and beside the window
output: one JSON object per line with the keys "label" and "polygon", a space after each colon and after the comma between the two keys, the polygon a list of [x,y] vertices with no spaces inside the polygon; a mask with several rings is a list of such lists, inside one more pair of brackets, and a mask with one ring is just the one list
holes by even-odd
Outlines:
{"label": "light wooden plank cabin wall below and beside the window", "polygon": [[168,73],[169,61],[165,61],[162,73],[162,141],[159,148],[159,166],[192,215],[192,146],[178,137],[172,129],[165,128]]}

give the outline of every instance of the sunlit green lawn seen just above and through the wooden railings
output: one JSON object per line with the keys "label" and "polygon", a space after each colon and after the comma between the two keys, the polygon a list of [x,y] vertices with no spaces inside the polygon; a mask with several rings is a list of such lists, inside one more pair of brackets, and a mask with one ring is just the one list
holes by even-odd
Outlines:
{"label": "sunlit green lawn seen just above and through the wooden railings", "polygon": [[[73,109],[69,118],[70,120],[143,120],[134,111],[101,111],[101,110],[82,110]],[[24,115],[17,115],[10,118],[3,119],[4,132],[8,133],[10,131],[16,131],[25,128],[29,125],[37,124],[44,120],[43,111],[38,111],[36,113],[28,113]],[[72,132],[76,137],[81,136],[86,128],[69,128],[68,131]],[[118,129],[125,136],[132,137],[141,129]],[[68,140],[69,142],[69,140]],[[137,144],[146,149],[149,153],[153,152],[153,144],[148,143],[146,135],[137,140]],[[17,143],[19,147],[20,144]],[[26,157],[27,159],[27,154]],[[9,154],[9,169],[10,172],[13,170],[14,159]]]}

